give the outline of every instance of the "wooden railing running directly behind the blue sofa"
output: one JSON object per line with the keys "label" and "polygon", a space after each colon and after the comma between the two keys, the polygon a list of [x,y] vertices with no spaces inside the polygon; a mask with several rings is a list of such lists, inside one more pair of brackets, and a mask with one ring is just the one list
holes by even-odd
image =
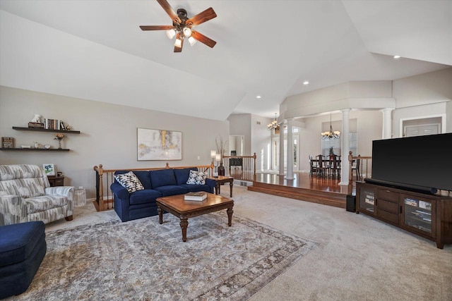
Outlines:
{"label": "wooden railing running directly behind the blue sofa", "polygon": [[[198,171],[204,171],[208,173],[208,176],[213,176],[213,164],[210,165],[198,165],[198,166],[169,166],[169,163],[165,167],[149,167],[149,168],[121,168],[121,169],[104,169],[102,164],[94,166],[96,172],[96,199],[93,201],[97,211],[104,211],[112,209],[114,204],[114,195],[110,190],[110,185],[114,182],[114,173],[116,171],[157,171],[165,168],[191,168],[197,167]],[[112,203],[112,207],[109,204]]]}

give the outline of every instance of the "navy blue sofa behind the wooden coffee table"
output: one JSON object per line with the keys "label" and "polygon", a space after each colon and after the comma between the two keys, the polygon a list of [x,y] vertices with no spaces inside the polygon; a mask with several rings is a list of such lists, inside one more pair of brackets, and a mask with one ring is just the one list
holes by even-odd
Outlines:
{"label": "navy blue sofa behind the wooden coffee table", "polygon": [[[129,193],[115,179],[110,188],[114,195],[114,211],[121,221],[142,219],[147,216],[157,215],[158,197],[168,195],[182,195],[187,192],[206,191],[213,193],[215,180],[206,178],[206,184],[186,184],[190,171],[198,171],[198,168],[165,168],[156,171],[133,171],[144,190]],[[128,173],[129,171],[116,171],[114,174]]]}

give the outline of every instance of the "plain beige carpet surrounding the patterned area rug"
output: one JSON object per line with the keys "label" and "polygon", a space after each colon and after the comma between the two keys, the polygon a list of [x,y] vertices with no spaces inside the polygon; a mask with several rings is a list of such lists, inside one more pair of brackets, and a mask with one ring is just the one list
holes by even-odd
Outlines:
{"label": "plain beige carpet surrounding the patterned area rug", "polygon": [[[222,195],[228,197],[226,190]],[[452,245],[434,242],[364,214],[234,185],[234,214],[319,242],[249,300],[452,300]],[[74,220],[47,231],[117,219],[76,207]]]}

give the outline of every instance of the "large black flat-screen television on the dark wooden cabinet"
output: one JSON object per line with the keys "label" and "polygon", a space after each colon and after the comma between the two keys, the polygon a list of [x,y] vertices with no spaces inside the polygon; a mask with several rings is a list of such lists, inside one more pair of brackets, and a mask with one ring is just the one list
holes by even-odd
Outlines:
{"label": "large black flat-screen television on the dark wooden cabinet", "polygon": [[426,193],[452,191],[452,133],[374,140],[367,182]]}

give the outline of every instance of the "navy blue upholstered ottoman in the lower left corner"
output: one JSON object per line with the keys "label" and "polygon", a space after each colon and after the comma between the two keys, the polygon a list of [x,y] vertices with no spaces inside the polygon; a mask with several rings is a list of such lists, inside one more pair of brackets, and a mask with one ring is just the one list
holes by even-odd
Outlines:
{"label": "navy blue upholstered ottoman in the lower left corner", "polygon": [[28,289],[47,251],[42,221],[0,226],[0,299]]}

